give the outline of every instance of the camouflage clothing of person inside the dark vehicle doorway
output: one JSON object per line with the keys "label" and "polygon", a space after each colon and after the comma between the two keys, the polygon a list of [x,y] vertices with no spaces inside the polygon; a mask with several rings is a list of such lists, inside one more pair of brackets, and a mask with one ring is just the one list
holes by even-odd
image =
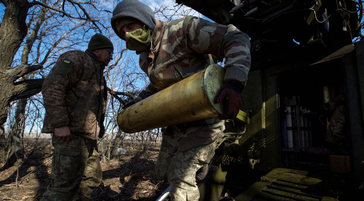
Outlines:
{"label": "camouflage clothing of person inside the dark vehicle doorway", "polygon": [[347,134],[347,130],[345,130],[346,126],[346,108],[345,106],[341,105],[336,108],[330,119],[325,140],[337,145],[341,145]]}

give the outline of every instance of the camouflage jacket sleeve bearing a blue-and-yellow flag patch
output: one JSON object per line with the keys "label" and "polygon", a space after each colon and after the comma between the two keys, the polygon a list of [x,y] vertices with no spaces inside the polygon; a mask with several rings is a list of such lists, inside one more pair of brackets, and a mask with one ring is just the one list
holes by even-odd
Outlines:
{"label": "camouflage jacket sleeve bearing a blue-and-yellow flag patch", "polygon": [[42,86],[43,104],[49,115],[50,125],[68,126],[66,88],[74,85],[82,73],[83,62],[75,54],[66,52],[57,60]]}

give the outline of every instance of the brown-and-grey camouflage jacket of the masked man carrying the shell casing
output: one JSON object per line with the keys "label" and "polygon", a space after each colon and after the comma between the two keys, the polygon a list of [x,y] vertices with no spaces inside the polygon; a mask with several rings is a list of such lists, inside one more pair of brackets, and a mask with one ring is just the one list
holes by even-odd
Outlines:
{"label": "brown-and-grey camouflage jacket of the masked man carrying the shell casing", "polygon": [[[248,35],[233,25],[225,26],[193,16],[170,22],[156,21],[151,49],[142,52],[139,57],[139,64],[148,74],[150,84],[135,102],[205,69],[213,57],[225,58],[225,81],[236,80],[245,86],[250,68]],[[185,123],[184,126],[204,127],[203,124],[210,122],[212,125],[218,121],[216,117]],[[188,135],[189,139],[180,139],[179,148],[185,150],[205,145],[214,142],[220,135],[221,132],[213,131],[209,135],[194,133]],[[189,143],[182,143],[187,141]]]}

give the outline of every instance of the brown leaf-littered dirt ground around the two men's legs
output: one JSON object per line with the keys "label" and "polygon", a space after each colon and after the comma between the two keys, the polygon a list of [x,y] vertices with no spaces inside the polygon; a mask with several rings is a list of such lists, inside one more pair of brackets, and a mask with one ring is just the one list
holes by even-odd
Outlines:
{"label": "brown leaf-littered dirt ground around the two men's legs", "polygon": [[[50,184],[53,146],[50,140],[37,145],[24,145],[25,158],[19,166],[6,167],[0,163],[0,200],[40,200]],[[118,160],[101,160],[103,182],[92,193],[92,201],[155,201],[169,186],[154,173],[159,146],[138,150],[123,147],[126,154]],[[239,174],[240,175],[240,174]],[[244,175],[244,174],[241,174]],[[227,175],[220,201],[230,201],[244,189],[246,178],[230,181]],[[18,182],[16,183],[16,178]],[[235,192],[235,193],[232,193]],[[165,201],[169,201],[166,198]]]}

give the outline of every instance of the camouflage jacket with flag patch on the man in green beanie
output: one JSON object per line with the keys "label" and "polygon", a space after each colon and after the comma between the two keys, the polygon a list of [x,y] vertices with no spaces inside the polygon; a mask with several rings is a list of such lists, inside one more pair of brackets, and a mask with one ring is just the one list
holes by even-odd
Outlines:
{"label": "camouflage jacket with flag patch on the man in green beanie", "polygon": [[46,115],[42,133],[68,126],[71,133],[96,139],[104,133],[106,81],[104,67],[90,50],[62,54],[43,82]]}

